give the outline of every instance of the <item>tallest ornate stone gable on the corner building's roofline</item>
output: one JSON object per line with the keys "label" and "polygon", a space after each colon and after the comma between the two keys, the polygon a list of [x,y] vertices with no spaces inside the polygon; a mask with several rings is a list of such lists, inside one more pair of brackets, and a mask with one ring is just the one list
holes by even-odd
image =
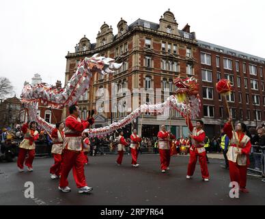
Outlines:
{"label": "tallest ornate stone gable on the corner building's roofline", "polygon": [[178,23],[176,21],[176,18],[174,14],[167,10],[163,16],[159,19],[159,31],[166,32],[167,34],[173,34],[180,36],[178,32]]}

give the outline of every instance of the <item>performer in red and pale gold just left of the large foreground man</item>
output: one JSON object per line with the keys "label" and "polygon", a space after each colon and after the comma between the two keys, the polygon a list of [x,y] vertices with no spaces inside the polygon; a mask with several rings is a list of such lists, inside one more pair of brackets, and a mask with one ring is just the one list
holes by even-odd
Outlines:
{"label": "performer in red and pale gold just left of the large foreground man", "polygon": [[64,123],[57,123],[56,128],[51,133],[53,138],[53,147],[51,153],[53,153],[54,164],[50,168],[51,179],[57,179],[61,175],[61,152],[63,151],[64,143]]}

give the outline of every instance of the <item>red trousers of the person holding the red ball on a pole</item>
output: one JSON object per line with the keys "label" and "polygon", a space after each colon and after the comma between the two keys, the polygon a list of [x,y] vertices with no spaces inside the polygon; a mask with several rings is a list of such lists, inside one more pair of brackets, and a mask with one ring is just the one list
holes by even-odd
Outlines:
{"label": "red trousers of the person holding the red ball on a pole", "polygon": [[237,163],[229,161],[229,175],[231,181],[238,182],[240,188],[245,188],[247,185],[247,165],[239,166]]}

